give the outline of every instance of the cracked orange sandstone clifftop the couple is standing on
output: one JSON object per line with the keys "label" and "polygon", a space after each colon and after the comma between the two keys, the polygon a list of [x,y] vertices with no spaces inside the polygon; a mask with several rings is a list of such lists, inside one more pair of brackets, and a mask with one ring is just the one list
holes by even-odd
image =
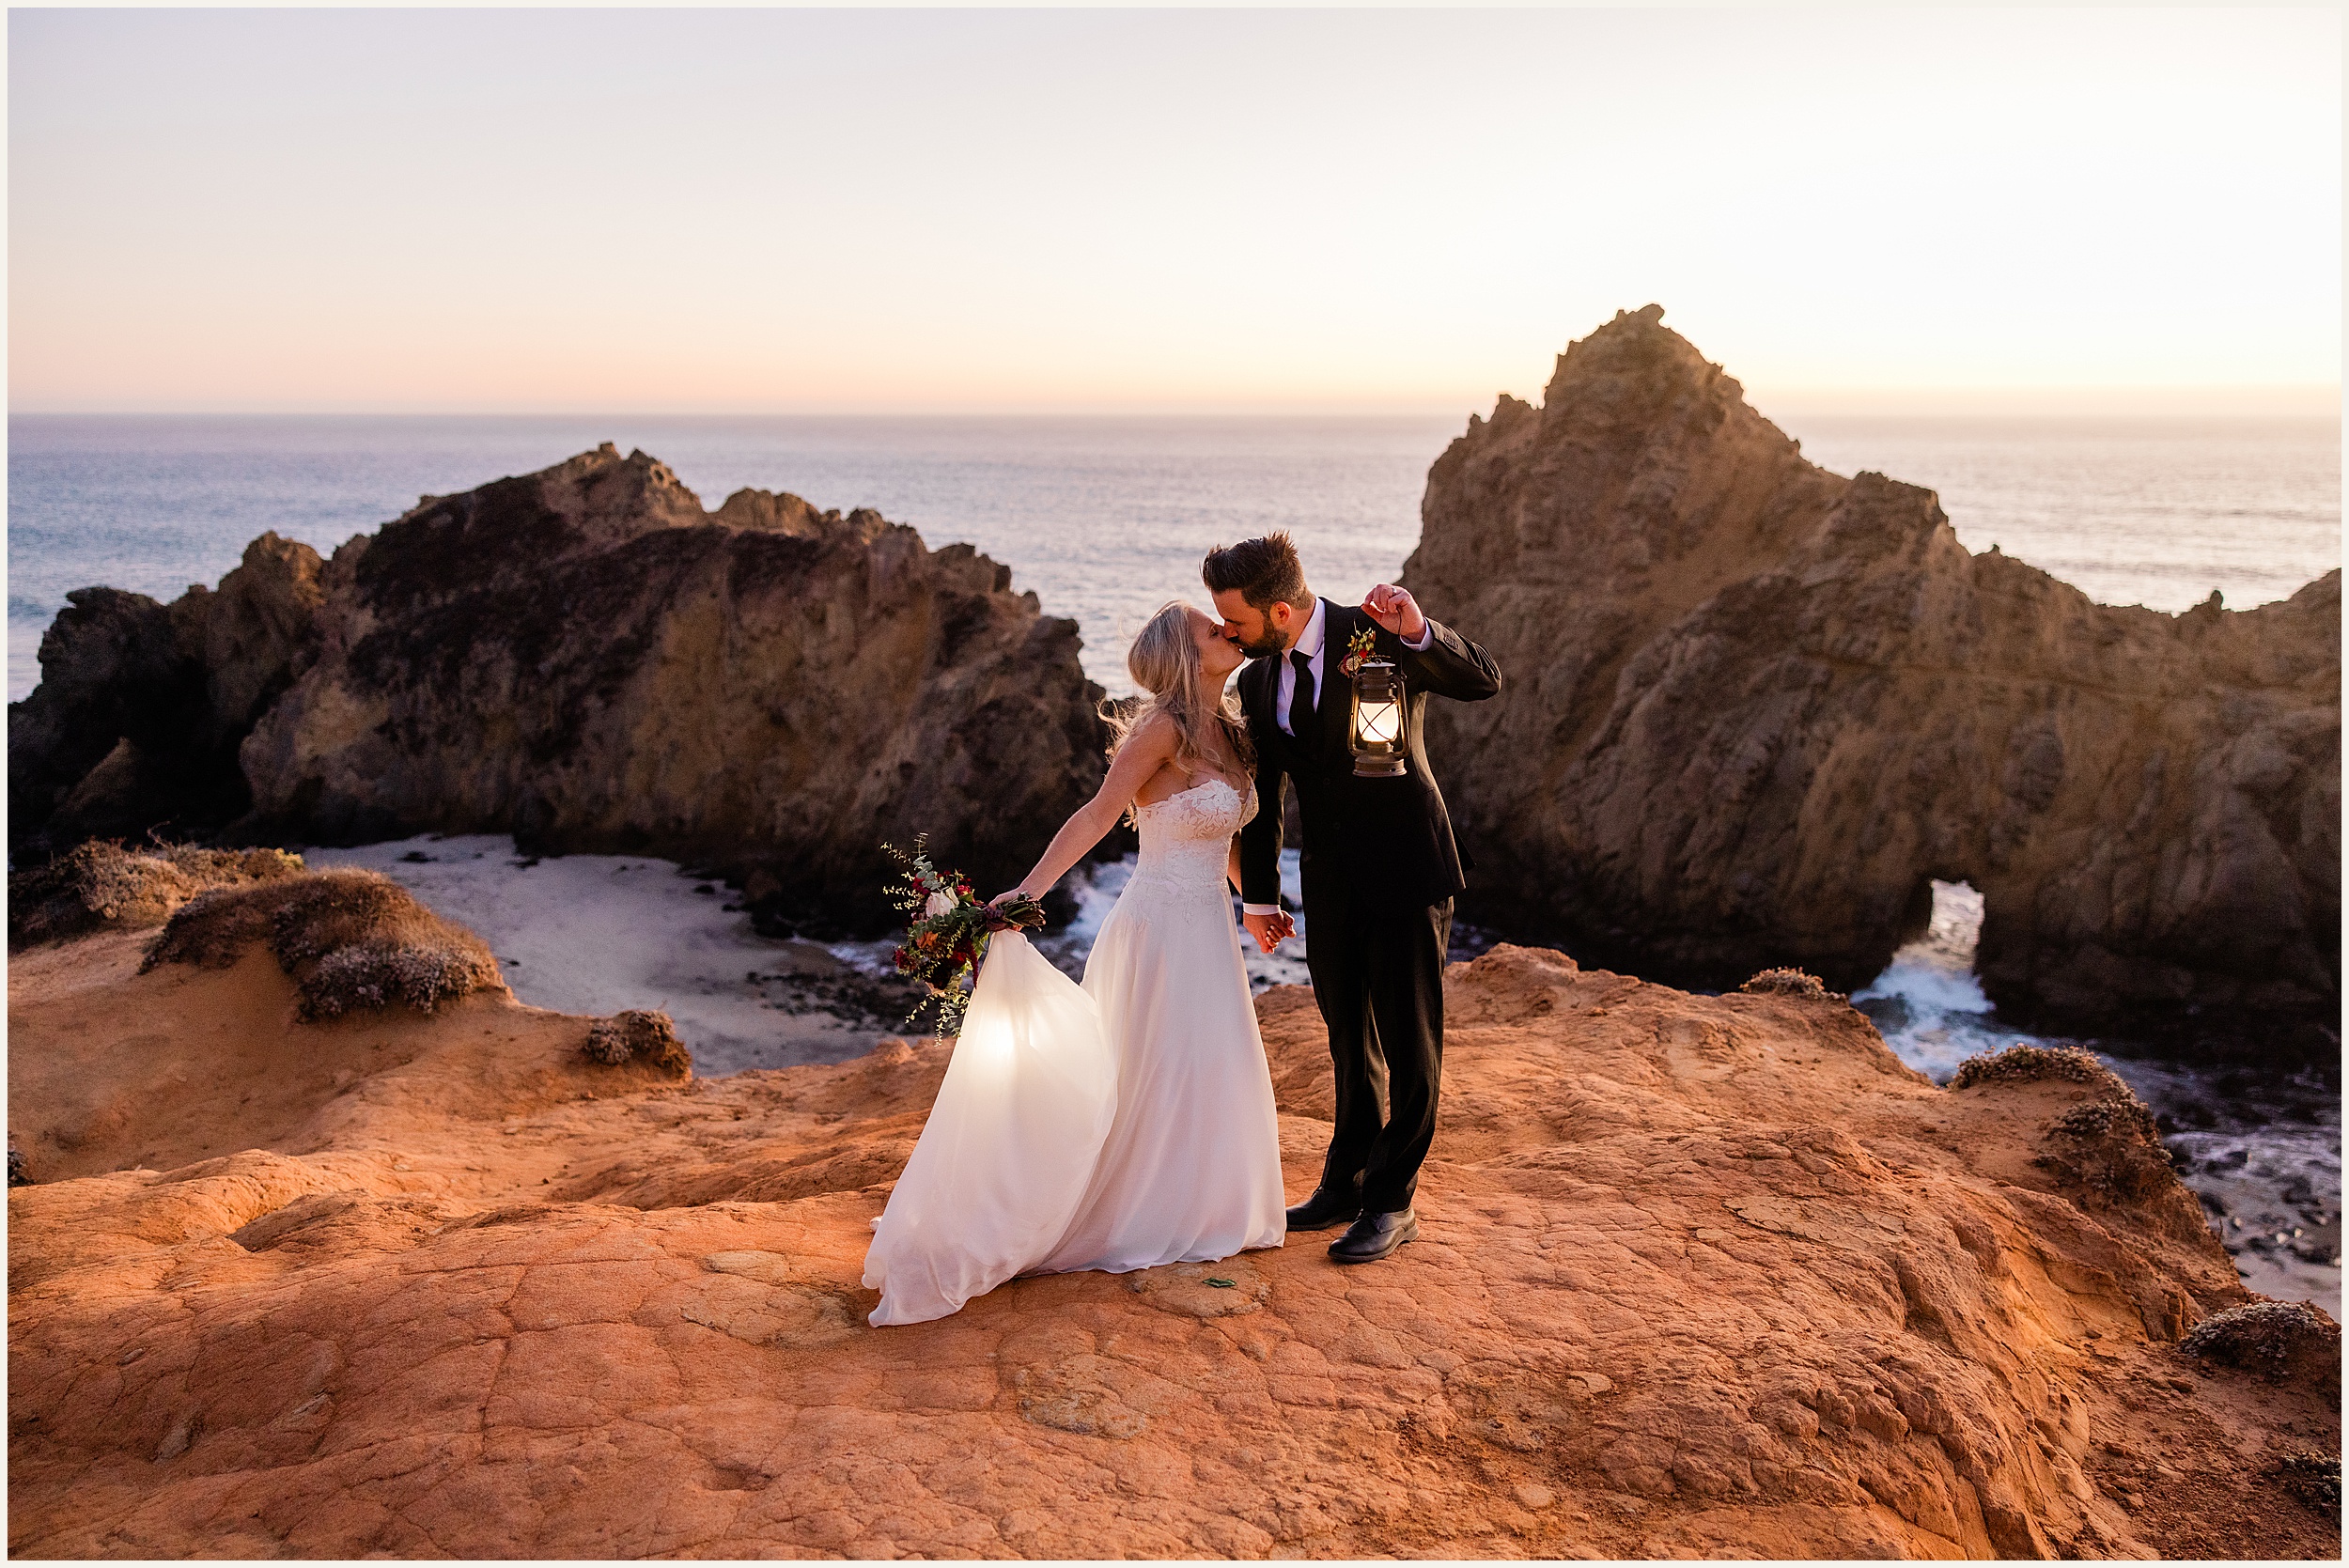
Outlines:
{"label": "cracked orange sandstone clifftop the couple is standing on", "polygon": [[[75,1162],[9,1192],[16,1554],[2337,1552],[2337,1387],[2178,1350],[2248,1296],[2074,1115],[2126,1089],[1936,1089],[1832,995],[1496,948],[1398,1258],[876,1331],[951,1045],[674,1082],[507,993],[296,1023],[265,951],[139,948],[9,967],[12,1131]],[[1322,1030],[1259,1014],[1299,1197]]]}

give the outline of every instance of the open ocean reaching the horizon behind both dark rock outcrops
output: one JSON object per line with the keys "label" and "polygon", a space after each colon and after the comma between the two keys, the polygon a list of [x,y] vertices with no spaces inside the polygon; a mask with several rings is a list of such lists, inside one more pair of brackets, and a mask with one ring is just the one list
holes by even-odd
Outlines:
{"label": "open ocean reaching the horizon behind both dark rock outcrops", "polygon": [[[879,507],[965,540],[1085,634],[1085,671],[1130,690],[1123,650],[1167,599],[1205,601],[1200,556],[1297,535],[1313,584],[1353,599],[1419,540],[1442,418],[263,418],[9,415],[9,699],[40,678],[66,592],[171,599],[218,582],[263,528],[331,552],[416,505],[615,441],[705,505],[742,486]],[[2234,608],[2340,566],[2333,420],[1785,420],[1835,472],[1933,486],[1971,549],[1999,545],[2107,603]]]}

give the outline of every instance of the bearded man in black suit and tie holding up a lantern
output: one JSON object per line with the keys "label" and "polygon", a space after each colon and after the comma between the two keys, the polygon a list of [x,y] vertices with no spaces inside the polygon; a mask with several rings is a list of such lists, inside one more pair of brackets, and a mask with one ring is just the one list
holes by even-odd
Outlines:
{"label": "bearded man in black suit and tie holding up a lantern", "polygon": [[[1304,894],[1313,937],[1306,969],[1330,1026],[1337,1129],[1313,1197],[1290,1230],[1353,1221],[1330,1246],[1339,1263],[1374,1263],[1419,1235],[1412,1190],[1435,1138],[1445,1054],[1445,948],[1461,857],[1428,770],[1421,716],[1428,692],[1482,702],[1501,690],[1492,657],[1381,582],[1362,608],[1315,599],[1285,533],[1217,547],[1200,566],[1224,638],[1254,662],[1240,707],[1257,746],[1254,822],[1240,831],[1247,932],[1271,953],[1294,934],[1280,908],[1280,815],[1297,786]],[[1353,772],[1348,650],[1367,634],[1405,685],[1409,765],[1400,777]],[[1386,1117],[1379,1089],[1386,1089]]]}

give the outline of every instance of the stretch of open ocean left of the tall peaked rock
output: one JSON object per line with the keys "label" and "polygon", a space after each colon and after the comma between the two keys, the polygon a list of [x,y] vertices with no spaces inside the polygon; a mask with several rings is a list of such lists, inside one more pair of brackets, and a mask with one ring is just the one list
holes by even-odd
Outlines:
{"label": "stretch of open ocean left of the tall peaked rock", "polygon": [[9,418],[9,699],[89,582],[171,599],[218,582],[263,528],[331,552],[416,505],[615,441],[716,507],[742,486],[876,507],[933,547],[1012,568],[1085,636],[1113,692],[1167,599],[1205,606],[1200,556],[1287,528],[1313,587],[1360,599],[1419,540],[1428,418]]}

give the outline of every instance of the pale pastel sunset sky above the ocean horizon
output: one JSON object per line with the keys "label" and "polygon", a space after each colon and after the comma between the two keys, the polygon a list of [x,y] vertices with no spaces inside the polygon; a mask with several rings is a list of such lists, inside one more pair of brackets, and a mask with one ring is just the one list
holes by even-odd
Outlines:
{"label": "pale pastel sunset sky above the ocean horizon", "polygon": [[2328,411],[2330,9],[9,12],[14,411]]}

